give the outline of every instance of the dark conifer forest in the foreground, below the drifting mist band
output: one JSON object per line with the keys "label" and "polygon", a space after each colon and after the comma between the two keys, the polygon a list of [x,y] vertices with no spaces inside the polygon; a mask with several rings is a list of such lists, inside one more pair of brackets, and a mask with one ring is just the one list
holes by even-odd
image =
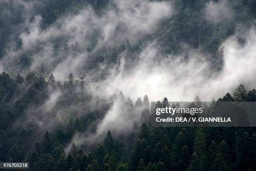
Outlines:
{"label": "dark conifer forest in the foreground, below the drifting mist band", "polygon": [[[146,95],[135,104],[122,92],[108,100],[100,99],[90,94],[84,81],[74,81],[72,74],[67,81],[59,82],[53,74],[48,79],[35,74],[25,78],[18,74],[12,79],[2,73],[0,87],[0,161],[27,161],[31,171],[249,171],[256,168],[255,128],[151,128]],[[52,89],[58,89],[61,95],[47,110],[49,106],[45,102]],[[121,134],[113,130],[113,136],[107,129],[99,132],[97,124],[104,120],[114,100],[121,101],[123,115],[127,115],[120,119],[132,121],[133,126]],[[198,96],[195,101],[201,102]],[[227,93],[217,102],[234,101],[255,102],[255,89],[247,92],[241,84],[233,96]],[[208,110],[215,110],[215,103],[212,100]],[[172,104],[165,97],[157,105]],[[87,140],[81,142],[81,133]],[[99,133],[100,137],[95,138]]]}

